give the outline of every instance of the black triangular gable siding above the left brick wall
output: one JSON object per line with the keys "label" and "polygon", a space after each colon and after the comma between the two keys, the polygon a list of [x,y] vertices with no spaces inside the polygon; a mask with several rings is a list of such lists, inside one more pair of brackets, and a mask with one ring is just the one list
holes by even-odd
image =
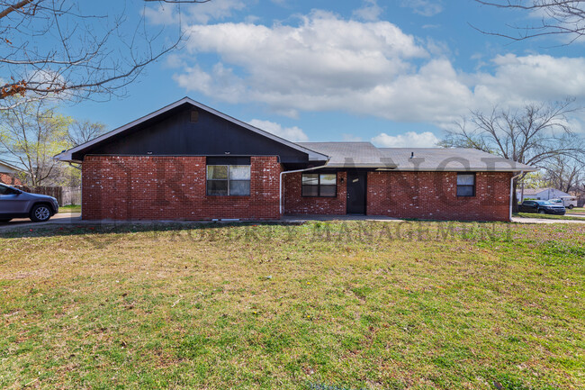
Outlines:
{"label": "black triangular gable siding above the left brick wall", "polygon": [[[191,111],[198,112],[191,122]],[[190,104],[143,122],[74,155],[280,156],[283,163],[307,162],[307,154],[251,132]]]}

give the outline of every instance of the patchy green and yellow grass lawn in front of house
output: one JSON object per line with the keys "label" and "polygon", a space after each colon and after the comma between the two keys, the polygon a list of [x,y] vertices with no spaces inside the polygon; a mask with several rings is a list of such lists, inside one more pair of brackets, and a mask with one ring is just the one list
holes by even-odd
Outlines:
{"label": "patchy green and yellow grass lawn in front of house", "polygon": [[0,232],[0,388],[585,387],[585,225]]}

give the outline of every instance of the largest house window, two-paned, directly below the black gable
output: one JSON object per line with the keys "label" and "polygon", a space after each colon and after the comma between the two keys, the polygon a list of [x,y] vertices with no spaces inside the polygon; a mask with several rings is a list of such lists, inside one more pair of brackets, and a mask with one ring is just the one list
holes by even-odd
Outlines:
{"label": "largest house window, two-paned, directly below the black gable", "polygon": [[208,165],[207,195],[250,195],[250,166]]}

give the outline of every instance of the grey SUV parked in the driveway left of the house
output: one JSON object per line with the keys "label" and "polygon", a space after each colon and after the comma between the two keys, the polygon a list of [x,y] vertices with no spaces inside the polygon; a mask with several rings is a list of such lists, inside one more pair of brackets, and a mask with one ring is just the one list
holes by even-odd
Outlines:
{"label": "grey SUV parked in the driveway left of the house", "polygon": [[31,218],[45,222],[58,213],[57,199],[48,195],[29,194],[0,183],[0,222],[13,218]]}

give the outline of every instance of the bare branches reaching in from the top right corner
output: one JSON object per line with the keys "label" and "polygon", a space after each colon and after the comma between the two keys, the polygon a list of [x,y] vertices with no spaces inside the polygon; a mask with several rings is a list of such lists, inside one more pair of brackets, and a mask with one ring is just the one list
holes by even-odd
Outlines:
{"label": "bare branches reaching in from the top right corner", "polygon": [[516,31],[516,34],[485,32],[476,28],[483,33],[509,38],[514,41],[523,41],[543,35],[564,35],[570,37],[570,42],[572,42],[585,35],[585,0],[475,1],[482,5],[542,14],[540,22],[537,24],[527,26],[509,25],[508,27]]}

